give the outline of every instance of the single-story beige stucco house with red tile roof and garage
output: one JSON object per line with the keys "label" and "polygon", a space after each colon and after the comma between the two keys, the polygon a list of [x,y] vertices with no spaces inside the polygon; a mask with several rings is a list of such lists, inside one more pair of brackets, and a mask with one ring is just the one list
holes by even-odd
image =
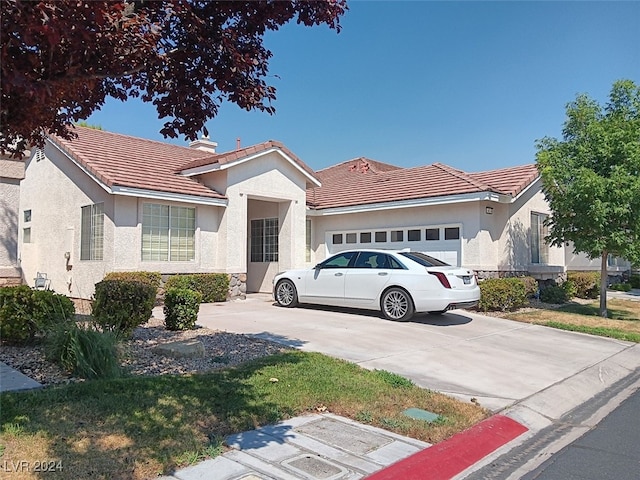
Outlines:
{"label": "single-story beige stucco house with red tile roof and garage", "polygon": [[[76,127],[32,149],[20,183],[18,263],[90,298],[112,271],[223,272],[268,292],[282,270],[346,248],[411,248],[480,277],[598,269],[544,242],[535,165],[467,173],[357,158],[313,171],[276,141],[218,153]],[[612,269],[628,269],[628,265]]]}

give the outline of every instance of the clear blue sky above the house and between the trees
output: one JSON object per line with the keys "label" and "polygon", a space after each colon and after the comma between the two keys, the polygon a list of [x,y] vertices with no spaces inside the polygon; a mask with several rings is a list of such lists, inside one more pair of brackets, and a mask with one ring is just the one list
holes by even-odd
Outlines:
{"label": "clear blue sky above the house and between the trees", "polygon": [[[640,83],[640,2],[351,1],[342,31],[269,33],[275,115],[225,104],[218,151],[279,140],[320,170],[364,156],[469,172],[535,162],[565,106]],[[150,104],[108,101],[88,122],[163,140]],[[186,145],[184,139],[166,140]]]}

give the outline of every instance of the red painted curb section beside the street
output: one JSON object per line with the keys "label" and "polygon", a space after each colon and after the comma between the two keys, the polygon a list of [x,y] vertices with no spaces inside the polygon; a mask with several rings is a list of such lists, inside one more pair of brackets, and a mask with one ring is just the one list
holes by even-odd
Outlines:
{"label": "red painted curb section beside the street", "polygon": [[509,417],[494,415],[374,473],[367,480],[448,480],[527,430]]}

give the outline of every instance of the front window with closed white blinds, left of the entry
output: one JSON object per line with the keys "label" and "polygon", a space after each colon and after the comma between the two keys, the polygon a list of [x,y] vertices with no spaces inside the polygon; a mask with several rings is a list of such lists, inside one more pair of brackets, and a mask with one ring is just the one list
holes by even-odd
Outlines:
{"label": "front window with closed white blinds, left of the entry", "polygon": [[196,209],[157,203],[142,206],[142,260],[195,259]]}

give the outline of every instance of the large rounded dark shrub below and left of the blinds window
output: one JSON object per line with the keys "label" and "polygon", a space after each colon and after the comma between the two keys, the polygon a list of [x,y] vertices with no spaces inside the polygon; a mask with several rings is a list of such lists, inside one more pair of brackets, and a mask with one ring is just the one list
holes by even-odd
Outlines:
{"label": "large rounded dark shrub below and left of the blinds window", "polygon": [[93,318],[103,331],[130,337],[151,318],[157,288],[137,280],[102,280],[96,283]]}

